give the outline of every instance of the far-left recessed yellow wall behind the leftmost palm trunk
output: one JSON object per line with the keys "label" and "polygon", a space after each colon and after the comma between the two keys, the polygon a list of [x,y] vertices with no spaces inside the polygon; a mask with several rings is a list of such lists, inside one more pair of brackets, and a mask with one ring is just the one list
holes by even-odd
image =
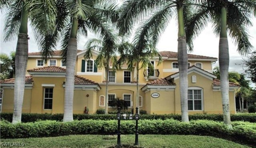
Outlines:
{"label": "far-left recessed yellow wall behind the leftmost palm trunk", "polygon": [[[22,113],[30,113],[31,92],[32,92],[32,89],[25,89],[24,99],[22,104]],[[2,112],[13,113],[13,104],[14,104],[14,89],[4,88],[4,94],[2,99]]]}

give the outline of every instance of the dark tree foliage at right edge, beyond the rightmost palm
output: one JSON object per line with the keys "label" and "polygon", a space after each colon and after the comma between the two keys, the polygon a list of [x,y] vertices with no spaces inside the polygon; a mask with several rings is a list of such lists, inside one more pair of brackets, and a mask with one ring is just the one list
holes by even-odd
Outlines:
{"label": "dark tree foliage at right edge, beyond the rightmost palm", "polygon": [[244,60],[244,62],[247,67],[246,73],[252,82],[256,83],[256,51],[248,56],[248,60]]}

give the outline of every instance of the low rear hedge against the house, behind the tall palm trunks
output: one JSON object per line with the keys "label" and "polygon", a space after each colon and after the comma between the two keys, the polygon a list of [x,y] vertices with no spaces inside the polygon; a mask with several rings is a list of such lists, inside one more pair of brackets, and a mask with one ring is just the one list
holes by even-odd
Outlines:
{"label": "low rear hedge against the house, behind the tall palm trunks", "polygon": [[[116,115],[95,115],[95,114],[74,114],[74,120],[93,119],[93,120],[115,120]],[[1,113],[1,119],[12,122],[12,113]],[[22,113],[22,122],[35,122],[38,120],[55,120],[62,121],[63,114],[38,114],[38,113]],[[181,121],[181,115],[168,114],[168,115],[140,115],[140,119],[175,119]],[[223,115],[221,114],[194,114],[189,115],[190,120],[212,120],[223,121]],[[256,113],[240,113],[231,114],[231,121],[248,121],[256,123]]]}

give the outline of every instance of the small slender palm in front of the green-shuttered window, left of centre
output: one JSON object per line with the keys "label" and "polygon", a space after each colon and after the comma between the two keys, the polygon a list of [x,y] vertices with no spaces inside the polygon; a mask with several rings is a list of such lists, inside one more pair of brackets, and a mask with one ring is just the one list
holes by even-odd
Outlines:
{"label": "small slender palm in front of the green-shuttered window, left of centre", "polygon": [[[115,35],[114,30],[110,27],[108,28],[108,37],[104,37],[102,39],[90,39],[86,42],[86,53],[84,55],[84,59],[92,58],[92,50],[98,51],[99,55],[97,56],[95,62],[99,68],[105,67],[106,73],[106,91],[105,91],[105,114],[108,114],[108,72],[110,69],[109,63],[112,62],[112,65],[116,63],[116,51],[118,47],[118,36]],[[115,67],[112,66],[113,72],[115,71]]]}

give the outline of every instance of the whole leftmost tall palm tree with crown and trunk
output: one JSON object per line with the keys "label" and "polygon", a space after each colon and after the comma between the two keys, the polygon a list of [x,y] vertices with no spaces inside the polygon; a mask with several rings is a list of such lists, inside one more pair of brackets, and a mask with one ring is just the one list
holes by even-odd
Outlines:
{"label": "whole leftmost tall palm tree with crown and trunk", "polygon": [[28,61],[28,19],[34,28],[36,40],[41,43],[41,35],[48,35],[54,30],[56,7],[54,0],[4,0],[1,2],[0,8],[7,10],[4,41],[18,36],[15,54],[14,113],[12,117],[12,123],[18,123],[21,122]]}

